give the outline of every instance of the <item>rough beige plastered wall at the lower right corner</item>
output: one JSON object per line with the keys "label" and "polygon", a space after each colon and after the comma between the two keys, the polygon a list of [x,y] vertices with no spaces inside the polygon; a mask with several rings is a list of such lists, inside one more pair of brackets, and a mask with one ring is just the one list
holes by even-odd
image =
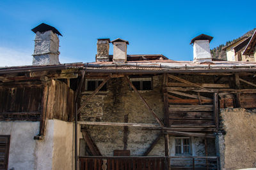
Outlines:
{"label": "rough beige plastered wall at the lower right corner", "polygon": [[225,135],[218,136],[222,169],[256,166],[256,112],[242,108],[221,109]]}

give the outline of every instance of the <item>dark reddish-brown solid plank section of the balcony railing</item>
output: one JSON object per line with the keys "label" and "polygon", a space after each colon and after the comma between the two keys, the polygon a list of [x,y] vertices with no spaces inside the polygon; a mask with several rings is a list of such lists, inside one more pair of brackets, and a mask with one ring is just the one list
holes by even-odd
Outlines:
{"label": "dark reddish-brown solid plank section of the balcony railing", "polygon": [[159,170],[164,157],[79,157],[81,170]]}

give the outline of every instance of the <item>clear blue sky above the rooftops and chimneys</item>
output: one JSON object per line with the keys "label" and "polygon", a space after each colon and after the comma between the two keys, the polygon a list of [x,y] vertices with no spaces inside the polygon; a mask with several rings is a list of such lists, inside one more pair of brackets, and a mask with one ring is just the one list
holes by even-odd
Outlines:
{"label": "clear blue sky above the rooftops and chimneys", "polygon": [[94,61],[97,38],[129,41],[128,54],[191,60],[189,42],[195,36],[213,36],[214,48],[256,27],[255,6],[256,1],[246,0],[0,1],[0,66],[31,64],[31,29],[42,22],[63,34],[62,63]]}

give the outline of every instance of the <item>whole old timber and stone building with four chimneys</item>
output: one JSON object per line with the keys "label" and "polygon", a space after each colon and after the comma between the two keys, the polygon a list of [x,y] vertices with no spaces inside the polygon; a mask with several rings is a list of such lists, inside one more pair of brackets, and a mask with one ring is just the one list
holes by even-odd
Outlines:
{"label": "whole old timber and stone building with four chimneys", "polygon": [[95,62],[59,64],[60,32],[33,30],[33,66],[0,68],[0,169],[255,166],[255,62],[213,61],[201,34],[193,61],[104,38]]}

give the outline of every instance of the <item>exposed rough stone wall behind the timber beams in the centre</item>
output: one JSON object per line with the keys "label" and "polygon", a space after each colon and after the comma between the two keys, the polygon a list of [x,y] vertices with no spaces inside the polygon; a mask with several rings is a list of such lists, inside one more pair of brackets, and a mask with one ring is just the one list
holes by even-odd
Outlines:
{"label": "exposed rough stone wall behind the timber beams in the centre", "polygon": [[[153,76],[153,90],[140,90],[141,95],[161,120],[164,117],[162,84],[162,75]],[[124,78],[112,78],[108,82],[108,92],[99,93],[100,95],[96,95],[82,111],[81,120],[95,121],[98,118],[97,121],[102,122],[157,124],[152,113],[148,111],[138,94],[130,89],[129,83]],[[83,103],[89,95],[84,94],[81,102]],[[130,150],[132,156],[141,156],[159,134],[159,131],[148,131],[141,127],[128,127],[127,132],[124,132],[124,127],[117,126],[86,125],[86,129],[104,156],[113,156],[113,150],[123,149]],[[204,138],[191,138],[191,140],[192,155],[204,156]],[[215,148],[215,145],[212,147]],[[148,155],[164,156],[163,138]],[[170,155],[175,155],[172,136],[170,136]]]}

